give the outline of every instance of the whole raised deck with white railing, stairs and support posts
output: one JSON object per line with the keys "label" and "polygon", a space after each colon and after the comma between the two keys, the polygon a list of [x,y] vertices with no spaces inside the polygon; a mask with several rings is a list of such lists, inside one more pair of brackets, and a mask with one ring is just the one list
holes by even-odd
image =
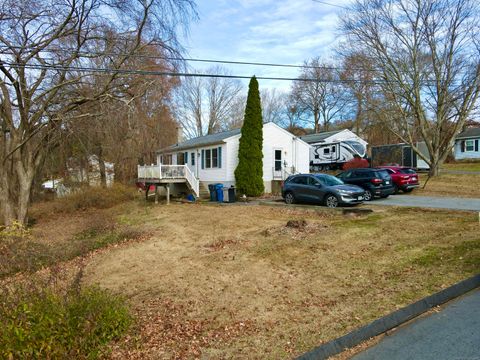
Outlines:
{"label": "whole raised deck with white railing, stairs and support posts", "polygon": [[146,196],[150,185],[155,185],[155,190],[159,185],[164,186],[167,190],[167,202],[170,200],[169,184],[174,183],[185,183],[195,197],[200,196],[200,181],[187,165],[138,165],[137,181],[146,185]]}

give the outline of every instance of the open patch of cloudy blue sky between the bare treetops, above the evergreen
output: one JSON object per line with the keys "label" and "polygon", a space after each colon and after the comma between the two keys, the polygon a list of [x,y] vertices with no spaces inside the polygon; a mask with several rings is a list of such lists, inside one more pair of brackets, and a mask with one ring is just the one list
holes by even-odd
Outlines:
{"label": "open patch of cloudy blue sky between the bare treetops, above the evergreen", "polygon": [[[331,0],[348,6],[351,0]],[[328,58],[337,44],[342,9],[313,0],[198,0],[200,20],[184,40],[189,57],[282,64]],[[197,69],[212,64],[190,63]],[[235,75],[295,77],[295,68],[224,65]],[[289,82],[261,87],[287,90]]]}

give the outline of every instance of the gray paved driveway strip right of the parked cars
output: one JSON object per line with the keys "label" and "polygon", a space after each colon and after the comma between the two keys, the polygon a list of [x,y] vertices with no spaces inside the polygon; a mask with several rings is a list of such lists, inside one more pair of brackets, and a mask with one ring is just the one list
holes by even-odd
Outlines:
{"label": "gray paved driveway strip right of the parked cars", "polygon": [[371,204],[480,211],[480,199],[469,198],[412,196],[399,194],[389,196],[386,199],[375,199]]}

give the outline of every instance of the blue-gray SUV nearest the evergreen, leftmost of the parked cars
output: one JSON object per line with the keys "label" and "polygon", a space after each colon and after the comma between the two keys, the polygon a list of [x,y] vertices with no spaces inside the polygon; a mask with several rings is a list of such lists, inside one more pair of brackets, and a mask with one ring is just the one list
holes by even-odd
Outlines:
{"label": "blue-gray SUV nearest the evergreen, leftmost of the parked cars", "polygon": [[299,174],[285,180],[282,197],[287,204],[317,203],[334,208],[361,204],[365,190],[356,185],[345,185],[342,180],[327,174]]}

